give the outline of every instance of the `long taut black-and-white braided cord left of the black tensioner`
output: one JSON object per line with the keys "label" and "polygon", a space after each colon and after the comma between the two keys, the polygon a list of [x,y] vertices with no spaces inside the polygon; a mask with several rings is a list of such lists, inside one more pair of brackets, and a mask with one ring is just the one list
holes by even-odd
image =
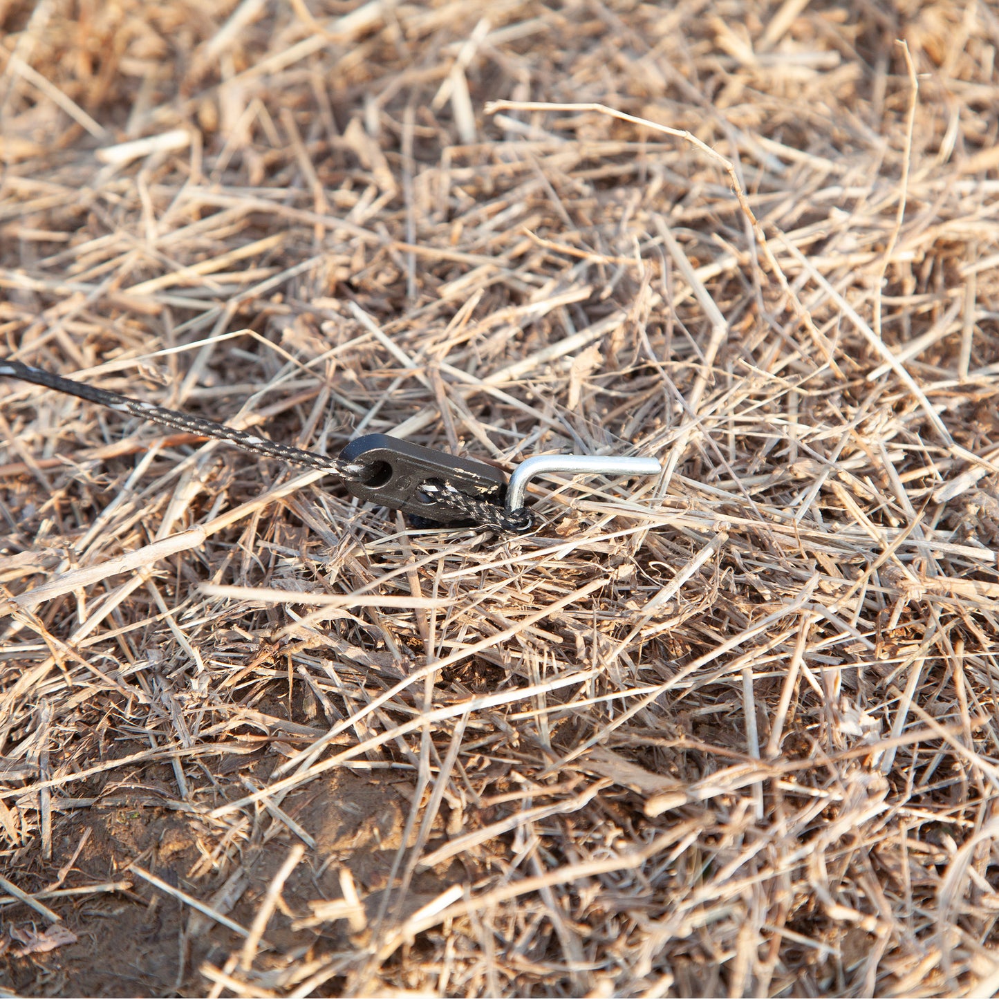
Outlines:
{"label": "long taut black-and-white braided cord left of the black tensioner", "polygon": [[167,410],[153,403],[140,403],[127,396],[119,396],[117,392],[95,389],[83,382],[71,382],[69,379],[60,378],[58,375],[43,371],[41,368],[22,365],[19,361],[0,362],[0,375],[20,379],[22,382],[31,382],[33,385],[41,385],[46,389],[54,389],[56,392],[62,392],[68,396],[76,396],[77,399],[86,400],[88,403],[96,403],[98,406],[107,407],[118,413],[127,413],[139,420],[149,420],[151,423],[161,424],[175,431],[196,434],[198,437],[207,437],[215,441],[228,441],[237,448],[253,455],[277,458],[304,469],[327,472],[339,476],[347,482],[360,482],[365,472],[365,467],[358,463],[342,462],[340,459],[330,458],[327,455],[301,451],[286,444],[269,441],[267,438],[256,437],[246,431],[238,431],[233,427],[217,424],[214,420],[188,416],[186,413]]}

